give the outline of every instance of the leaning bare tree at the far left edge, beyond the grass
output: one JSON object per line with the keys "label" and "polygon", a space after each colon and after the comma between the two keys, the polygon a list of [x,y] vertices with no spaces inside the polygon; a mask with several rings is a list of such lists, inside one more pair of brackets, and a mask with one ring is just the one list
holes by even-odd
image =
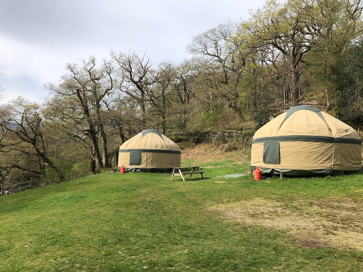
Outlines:
{"label": "leaning bare tree at the far left edge, beyond the grass", "polygon": [[2,115],[1,121],[0,152],[12,154],[3,161],[2,168],[15,168],[44,179],[45,168],[50,167],[57,172],[59,179],[63,180],[63,173],[47,153],[40,106],[18,98],[3,105],[0,111],[5,114]]}

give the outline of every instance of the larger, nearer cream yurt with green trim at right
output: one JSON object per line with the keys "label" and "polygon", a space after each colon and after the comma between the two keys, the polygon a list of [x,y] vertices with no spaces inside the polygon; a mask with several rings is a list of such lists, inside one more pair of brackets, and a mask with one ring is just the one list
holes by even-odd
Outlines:
{"label": "larger, nearer cream yurt with green trim at right", "polygon": [[284,175],[341,175],[362,169],[361,139],[349,125],[313,106],[296,106],[258,129],[251,169]]}

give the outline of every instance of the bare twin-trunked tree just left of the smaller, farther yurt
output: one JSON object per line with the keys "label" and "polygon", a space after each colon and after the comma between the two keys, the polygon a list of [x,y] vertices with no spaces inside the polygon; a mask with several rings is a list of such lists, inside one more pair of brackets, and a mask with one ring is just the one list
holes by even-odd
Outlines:
{"label": "bare twin-trunked tree just left of the smaller, farther yurt", "polygon": [[[102,103],[106,101],[113,90],[113,67],[106,60],[99,69],[96,68],[96,60],[90,57],[83,61],[83,66],[68,63],[69,75],[62,77],[63,82],[58,86],[48,84],[46,88],[57,94],[57,98],[68,97],[67,105],[80,106],[82,109],[82,121],[86,127],[80,125],[80,134],[87,136],[91,143],[92,157],[95,163],[94,173],[99,173],[102,167],[108,166],[107,136],[102,117]],[[69,104],[75,103],[74,105]],[[66,115],[65,115],[66,116]],[[71,116],[71,118],[73,118]],[[99,149],[98,138],[101,139],[102,157]]]}

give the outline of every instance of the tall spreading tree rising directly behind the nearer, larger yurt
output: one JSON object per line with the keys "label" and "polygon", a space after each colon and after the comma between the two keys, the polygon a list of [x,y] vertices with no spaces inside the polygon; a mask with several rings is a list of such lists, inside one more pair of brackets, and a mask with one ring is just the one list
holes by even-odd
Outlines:
{"label": "tall spreading tree rising directly behind the nearer, larger yurt", "polygon": [[251,47],[281,52],[281,60],[289,66],[291,106],[299,104],[302,57],[321,35],[322,27],[314,21],[314,1],[288,0],[280,4],[270,0],[241,27]]}

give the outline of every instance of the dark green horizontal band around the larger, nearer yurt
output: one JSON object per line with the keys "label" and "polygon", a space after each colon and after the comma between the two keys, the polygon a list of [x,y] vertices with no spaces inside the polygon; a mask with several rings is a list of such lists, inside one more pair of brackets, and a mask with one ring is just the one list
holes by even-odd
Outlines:
{"label": "dark green horizontal band around the larger, nearer yurt", "polygon": [[316,142],[316,143],[338,143],[338,144],[352,144],[361,145],[361,139],[356,138],[334,138],[327,136],[313,136],[313,135],[288,135],[288,136],[275,136],[275,137],[262,137],[252,139],[252,144],[261,143],[280,143],[280,142]]}

